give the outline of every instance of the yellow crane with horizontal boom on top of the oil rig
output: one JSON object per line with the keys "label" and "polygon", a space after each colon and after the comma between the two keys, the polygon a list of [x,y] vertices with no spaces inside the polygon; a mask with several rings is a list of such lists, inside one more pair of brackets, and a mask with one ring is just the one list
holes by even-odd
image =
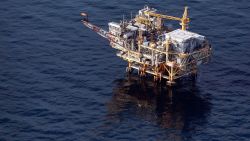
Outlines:
{"label": "yellow crane with horizontal boom on top of the oil rig", "polygon": [[182,30],[187,30],[188,23],[190,22],[190,19],[188,18],[188,7],[184,8],[184,13],[183,13],[182,18],[157,14],[157,13],[152,12],[152,11],[145,11],[144,13],[146,15],[149,15],[149,16],[152,16],[152,17],[157,17],[157,18],[160,18],[160,19],[168,19],[168,20],[180,21],[180,25],[181,25]]}

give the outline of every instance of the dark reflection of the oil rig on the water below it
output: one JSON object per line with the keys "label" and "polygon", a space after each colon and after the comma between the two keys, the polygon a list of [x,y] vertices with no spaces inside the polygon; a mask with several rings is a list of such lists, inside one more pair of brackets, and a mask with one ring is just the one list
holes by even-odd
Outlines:
{"label": "dark reflection of the oil rig on the water below it", "polygon": [[116,118],[139,116],[163,128],[178,130],[206,123],[210,102],[200,96],[195,85],[177,84],[175,87],[158,87],[151,80],[141,81],[137,76],[116,80],[108,111],[117,115]]}

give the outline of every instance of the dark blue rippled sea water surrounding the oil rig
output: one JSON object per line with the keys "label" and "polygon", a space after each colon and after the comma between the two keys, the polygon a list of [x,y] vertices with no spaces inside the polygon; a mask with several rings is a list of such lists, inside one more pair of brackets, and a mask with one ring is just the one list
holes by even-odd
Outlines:
{"label": "dark blue rippled sea water surrounding the oil rig", "polygon": [[[85,11],[106,28],[145,4],[190,7],[190,30],[214,48],[196,85],[126,76],[80,22]],[[1,0],[0,140],[250,140],[249,13],[248,0]]]}

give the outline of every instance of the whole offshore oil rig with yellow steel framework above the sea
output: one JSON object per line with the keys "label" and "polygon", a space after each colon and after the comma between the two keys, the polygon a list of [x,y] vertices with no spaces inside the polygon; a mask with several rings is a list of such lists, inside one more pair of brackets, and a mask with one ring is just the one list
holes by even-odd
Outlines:
{"label": "whole offshore oil rig with yellow steel framework above the sea", "polygon": [[[153,75],[154,81],[164,78],[171,85],[183,76],[195,76],[198,66],[209,62],[212,53],[204,36],[187,31],[188,7],[180,18],[145,6],[129,21],[123,18],[119,23],[108,23],[109,31],[91,24],[87,13],[81,16],[85,26],[108,39],[110,46],[118,50],[117,56],[128,62],[128,73],[135,69],[141,77]],[[181,28],[170,29],[164,25],[165,20],[179,21]]]}

